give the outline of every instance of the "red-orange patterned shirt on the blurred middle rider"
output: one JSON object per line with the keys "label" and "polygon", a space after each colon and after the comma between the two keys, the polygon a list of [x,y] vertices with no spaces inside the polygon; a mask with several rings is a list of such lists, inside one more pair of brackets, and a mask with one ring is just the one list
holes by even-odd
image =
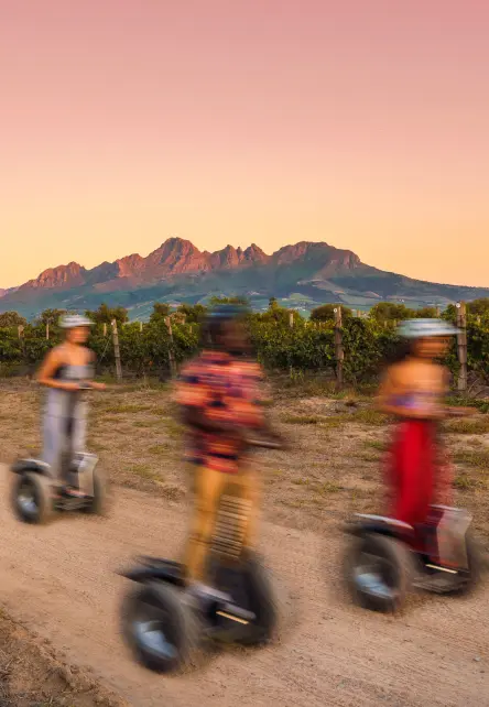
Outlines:
{"label": "red-orange patterned shirt on the blurred middle rider", "polygon": [[[220,351],[204,351],[183,369],[175,398],[182,406],[198,409],[203,421],[256,428],[263,422],[262,379],[258,363]],[[194,464],[233,474],[242,453],[232,436],[192,427],[186,456]]]}

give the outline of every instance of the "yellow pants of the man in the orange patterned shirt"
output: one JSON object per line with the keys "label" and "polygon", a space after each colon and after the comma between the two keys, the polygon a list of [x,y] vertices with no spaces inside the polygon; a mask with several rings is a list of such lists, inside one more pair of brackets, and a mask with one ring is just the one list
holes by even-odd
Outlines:
{"label": "yellow pants of the man in the orange patterned shirt", "polygon": [[194,467],[194,512],[191,535],[187,542],[184,564],[191,581],[205,581],[206,564],[213,533],[216,527],[219,499],[228,483],[240,487],[240,498],[250,501],[251,510],[247,520],[243,545],[250,547],[254,541],[259,485],[257,474],[247,467],[238,474],[226,474],[207,467]]}

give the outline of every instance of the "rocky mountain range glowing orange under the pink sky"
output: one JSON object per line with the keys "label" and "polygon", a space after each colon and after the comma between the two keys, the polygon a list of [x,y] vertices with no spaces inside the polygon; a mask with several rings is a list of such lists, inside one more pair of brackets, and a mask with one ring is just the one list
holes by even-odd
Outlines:
{"label": "rocky mountain range glowing orange under the pink sky", "polygon": [[196,303],[211,295],[246,295],[258,309],[271,296],[305,311],[332,302],[365,309],[380,301],[444,307],[487,297],[489,287],[413,280],[367,265],[352,251],[325,242],[301,241],[269,255],[254,243],[208,252],[170,238],[146,258],[134,253],[91,269],[70,262],[18,287],[0,289],[0,312],[32,317],[47,307],[83,311],[107,302],[144,319],[155,301]]}

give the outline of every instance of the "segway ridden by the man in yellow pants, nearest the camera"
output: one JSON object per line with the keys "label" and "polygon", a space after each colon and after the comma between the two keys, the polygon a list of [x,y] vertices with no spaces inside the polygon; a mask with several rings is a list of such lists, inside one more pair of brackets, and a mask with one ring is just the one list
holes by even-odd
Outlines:
{"label": "segway ridden by the man in yellow pants, nearest the camera", "polygon": [[[279,448],[256,439],[253,447]],[[256,553],[243,547],[250,504],[229,477],[216,523],[208,567],[208,597],[189,598],[184,567],[175,562],[140,557],[119,574],[140,586],[123,600],[122,635],[145,667],[169,673],[192,662],[194,649],[209,640],[240,645],[267,643],[276,624],[276,608],[267,570]]]}

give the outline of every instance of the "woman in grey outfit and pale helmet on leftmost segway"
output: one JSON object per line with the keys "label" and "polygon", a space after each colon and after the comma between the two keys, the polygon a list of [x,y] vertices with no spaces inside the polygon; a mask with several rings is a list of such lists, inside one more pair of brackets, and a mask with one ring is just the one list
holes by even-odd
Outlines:
{"label": "woman in grey outfit and pale helmet on leftmost segway", "polygon": [[75,497],[82,492],[62,476],[64,455],[85,452],[87,403],[82,391],[106,388],[93,380],[95,354],[85,346],[91,325],[93,322],[84,316],[62,317],[59,326],[65,330],[64,341],[46,355],[37,373],[37,382],[48,388],[43,412],[42,459],[56,478],[66,481],[65,491]]}

